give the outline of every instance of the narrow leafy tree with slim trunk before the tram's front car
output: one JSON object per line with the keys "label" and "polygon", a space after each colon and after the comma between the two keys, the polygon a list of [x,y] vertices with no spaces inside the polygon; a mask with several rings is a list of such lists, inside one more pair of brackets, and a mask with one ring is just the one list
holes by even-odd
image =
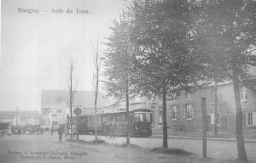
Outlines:
{"label": "narrow leafy tree with slim trunk before the tram's front car", "polygon": [[130,115],[129,100],[137,94],[131,81],[133,75],[131,55],[133,46],[130,42],[129,21],[126,20],[125,14],[119,16],[119,21],[113,21],[112,35],[108,37],[108,50],[104,53],[105,71],[103,75],[106,78],[104,88],[108,95],[113,96],[118,102],[126,103],[127,118],[127,138],[126,143],[130,143]]}

